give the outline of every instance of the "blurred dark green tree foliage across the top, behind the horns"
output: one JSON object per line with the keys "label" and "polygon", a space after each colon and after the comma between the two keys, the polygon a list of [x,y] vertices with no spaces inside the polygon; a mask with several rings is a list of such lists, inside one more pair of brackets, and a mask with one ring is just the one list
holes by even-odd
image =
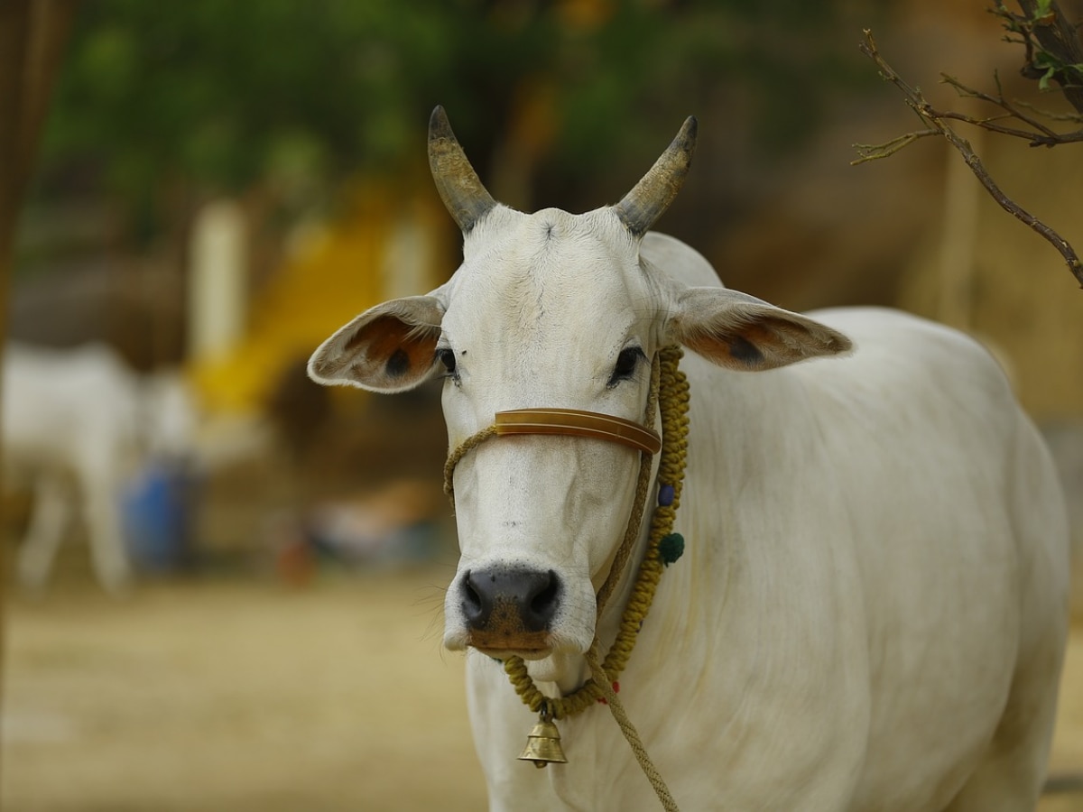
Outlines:
{"label": "blurred dark green tree foliage across the top, behind the horns", "polygon": [[122,201],[129,234],[144,237],[177,215],[164,197],[184,206],[193,194],[261,186],[306,207],[351,171],[405,176],[423,161],[425,121],[440,103],[494,192],[520,198],[508,202],[548,197],[539,180],[574,201],[599,163],[634,156],[638,166],[722,87],[743,89],[752,142],[770,148],[810,132],[832,87],[860,76],[824,36],[833,8],[86,0],[42,188],[82,179]]}

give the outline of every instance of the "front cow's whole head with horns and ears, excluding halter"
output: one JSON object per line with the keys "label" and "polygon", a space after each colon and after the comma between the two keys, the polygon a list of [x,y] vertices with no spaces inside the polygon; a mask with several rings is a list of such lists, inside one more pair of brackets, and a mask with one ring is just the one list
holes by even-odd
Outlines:
{"label": "front cow's whole head with horns and ears, excluding halter", "polygon": [[[436,108],[430,163],[462,230],[462,264],[428,296],[354,318],[312,356],[310,375],[374,392],[443,376],[457,448],[507,409],[641,421],[651,358],[667,344],[741,370],[848,349],[815,322],[721,287],[683,286],[640,257],[643,234],[683,182],[694,139],[690,118],[615,206],[524,214],[493,200]],[[572,436],[501,436],[467,454],[454,474],[461,560],[445,645],[527,659],[585,652],[638,466],[632,448]]]}

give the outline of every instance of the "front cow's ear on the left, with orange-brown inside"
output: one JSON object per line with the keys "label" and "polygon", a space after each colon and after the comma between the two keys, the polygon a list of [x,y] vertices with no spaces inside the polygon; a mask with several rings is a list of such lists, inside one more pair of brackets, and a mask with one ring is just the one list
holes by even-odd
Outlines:
{"label": "front cow's ear on the left, with orange-brown inside", "polygon": [[435,371],[444,306],[433,296],[394,299],[365,311],[309,359],[309,377],[371,392],[404,392]]}

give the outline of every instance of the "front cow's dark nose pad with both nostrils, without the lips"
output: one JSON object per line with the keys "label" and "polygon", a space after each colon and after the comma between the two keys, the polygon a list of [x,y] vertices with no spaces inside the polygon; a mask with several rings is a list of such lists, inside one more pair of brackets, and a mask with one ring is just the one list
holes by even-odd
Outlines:
{"label": "front cow's dark nose pad with both nostrils, without the lips", "polygon": [[[544,631],[557,613],[560,579],[551,569],[469,571],[462,580],[462,612],[471,629]],[[518,627],[518,628],[516,628]]]}

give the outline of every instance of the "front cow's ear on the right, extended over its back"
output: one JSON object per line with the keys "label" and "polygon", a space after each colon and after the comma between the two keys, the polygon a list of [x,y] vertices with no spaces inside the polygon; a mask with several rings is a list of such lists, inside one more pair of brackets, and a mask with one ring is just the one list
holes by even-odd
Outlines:
{"label": "front cow's ear on the right, extended over its back", "polygon": [[843,333],[726,288],[687,288],[678,296],[670,338],[729,369],[759,371],[851,349]]}

